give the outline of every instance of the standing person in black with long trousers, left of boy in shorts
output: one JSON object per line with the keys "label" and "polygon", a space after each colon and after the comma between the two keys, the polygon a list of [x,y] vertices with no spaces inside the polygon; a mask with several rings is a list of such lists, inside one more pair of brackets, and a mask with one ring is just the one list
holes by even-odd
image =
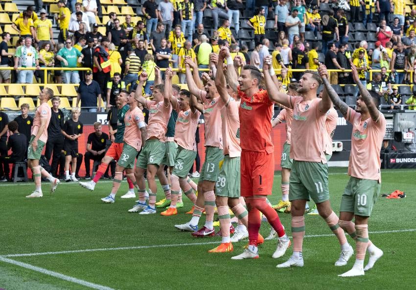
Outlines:
{"label": "standing person in black with long trousers, left of boy in shorts", "polygon": [[[52,157],[51,170],[53,176],[58,177],[58,164],[64,149],[64,113],[59,109],[61,99],[59,97],[52,98],[52,109],[49,126],[47,127],[47,141],[45,149],[45,158],[49,162]],[[53,152],[53,156],[52,156]]]}

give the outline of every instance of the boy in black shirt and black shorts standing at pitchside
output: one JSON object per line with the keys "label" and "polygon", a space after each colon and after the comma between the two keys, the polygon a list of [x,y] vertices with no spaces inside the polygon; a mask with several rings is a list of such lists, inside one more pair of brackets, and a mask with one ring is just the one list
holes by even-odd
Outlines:
{"label": "boy in black shirt and black shorts standing at pitchside", "polygon": [[[78,138],[81,137],[83,125],[79,119],[81,110],[72,109],[72,119],[65,122],[61,132],[64,135],[64,152],[65,152],[65,181],[78,182],[75,178],[76,163],[78,157]],[[71,175],[69,175],[69,164],[71,165]]]}

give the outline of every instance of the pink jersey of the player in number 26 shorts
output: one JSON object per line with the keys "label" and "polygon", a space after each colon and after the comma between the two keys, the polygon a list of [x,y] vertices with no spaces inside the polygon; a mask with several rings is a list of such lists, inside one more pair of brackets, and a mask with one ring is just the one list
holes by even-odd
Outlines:
{"label": "pink jersey of the player in number 26 shorts", "polygon": [[192,113],[191,109],[182,111],[179,108],[179,103],[176,105],[175,110],[178,112],[175,126],[175,142],[182,148],[196,151],[195,132],[201,112],[196,110],[195,113]]}

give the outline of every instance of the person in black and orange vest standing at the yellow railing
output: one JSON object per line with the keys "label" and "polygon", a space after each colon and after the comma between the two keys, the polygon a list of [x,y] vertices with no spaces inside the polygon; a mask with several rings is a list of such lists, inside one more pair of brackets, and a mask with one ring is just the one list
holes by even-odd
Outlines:
{"label": "person in black and orange vest standing at the yellow railing", "polygon": [[108,53],[109,44],[110,40],[103,37],[101,40],[101,45],[95,48],[94,54],[92,56],[94,61],[92,72],[94,73],[94,79],[97,80],[100,86],[101,95],[105,94],[106,85],[110,81],[111,64],[109,61],[110,55]]}

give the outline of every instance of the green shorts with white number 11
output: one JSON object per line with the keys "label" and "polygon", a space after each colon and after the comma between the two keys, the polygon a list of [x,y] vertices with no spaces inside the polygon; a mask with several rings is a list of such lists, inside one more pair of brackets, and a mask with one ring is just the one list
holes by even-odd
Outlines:
{"label": "green shorts with white number 11", "polygon": [[328,165],[293,160],[289,179],[289,200],[309,200],[309,195],[315,203],[329,199]]}

